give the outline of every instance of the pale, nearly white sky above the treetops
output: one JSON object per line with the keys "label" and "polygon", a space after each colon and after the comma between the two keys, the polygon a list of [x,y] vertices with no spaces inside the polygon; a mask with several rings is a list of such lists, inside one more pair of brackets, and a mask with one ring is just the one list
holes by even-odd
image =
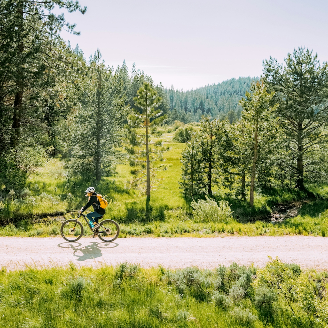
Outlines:
{"label": "pale, nearly white sky above the treetops", "polygon": [[99,48],[116,68],[151,75],[155,84],[190,90],[232,77],[259,76],[270,56],[282,62],[305,46],[328,60],[327,0],[80,0],[65,13],[81,35],[62,32],[85,57]]}

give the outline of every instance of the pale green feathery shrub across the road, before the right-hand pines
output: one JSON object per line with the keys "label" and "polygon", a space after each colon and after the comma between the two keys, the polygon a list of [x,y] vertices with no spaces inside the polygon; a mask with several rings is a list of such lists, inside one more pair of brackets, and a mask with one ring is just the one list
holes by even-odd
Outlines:
{"label": "pale green feathery shrub across the road, before the right-hand pines", "polygon": [[229,202],[225,200],[219,201],[217,204],[214,199],[205,196],[204,199],[192,201],[193,215],[197,222],[229,222],[232,218],[233,212]]}

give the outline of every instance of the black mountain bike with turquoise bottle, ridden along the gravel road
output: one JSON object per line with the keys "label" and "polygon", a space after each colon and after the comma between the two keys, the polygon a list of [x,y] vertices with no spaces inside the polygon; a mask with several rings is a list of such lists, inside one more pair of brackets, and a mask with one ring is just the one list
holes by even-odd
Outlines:
{"label": "black mountain bike with turquoise bottle, ridden along the gravel road", "polygon": [[[92,230],[92,226],[89,223],[89,219],[83,213],[79,213],[76,219],[66,220],[60,227],[60,234],[67,241],[77,241],[83,236],[83,226],[78,219],[83,216],[90,230],[93,232],[93,238],[98,236],[102,241],[111,242],[114,241],[119,233],[120,228],[118,224],[113,220],[103,220],[99,222],[100,226]],[[101,219],[102,216],[99,217]]]}

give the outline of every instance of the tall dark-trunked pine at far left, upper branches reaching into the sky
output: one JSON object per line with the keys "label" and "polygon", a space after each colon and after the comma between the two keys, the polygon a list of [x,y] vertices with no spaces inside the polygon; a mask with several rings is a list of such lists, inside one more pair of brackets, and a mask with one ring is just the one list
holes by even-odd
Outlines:
{"label": "tall dark-trunked pine at far left, upper branches reaching into the sky", "polygon": [[[45,67],[39,66],[38,61],[41,52],[50,50],[49,48],[45,49],[47,43],[44,43],[44,38],[58,37],[57,33],[61,28],[74,32],[75,25],[68,24],[63,15],[54,14],[54,7],[58,4],[70,12],[80,10],[82,13],[86,11],[86,8],[82,9],[78,1],[74,3],[69,0],[47,2],[7,0],[5,3],[10,5],[9,10],[11,10],[15,25],[11,39],[13,40],[12,46],[16,48],[16,51],[10,62],[10,69],[15,74],[13,78],[16,84],[13,90],[10,145],[15,148],[19,143],[21,124],[26,122],[25,118],[28,116],[26,100],[24,101],[25,94],[29,93],[33,81],[40,78],[40,70],[45,70]],[[35,74],[35,70],[37,70],[37,74]]]}

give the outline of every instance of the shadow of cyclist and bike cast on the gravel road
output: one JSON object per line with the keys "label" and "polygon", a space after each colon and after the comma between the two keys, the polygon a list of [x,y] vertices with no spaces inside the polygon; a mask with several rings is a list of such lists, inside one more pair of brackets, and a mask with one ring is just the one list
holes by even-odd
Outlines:
{"label": "shadow of cyclist and bike cast on the gravel road", "polygon": [[73,256],[77,257],[77,261],[85,261],[93,258],[103,256],[102,249],[110,249],[117,247],[117,243],[104,243],[92,241],[89,245],[82,246],[79,242],[62,242],[58,244],[61,248],[71,248],[73,250]]}

